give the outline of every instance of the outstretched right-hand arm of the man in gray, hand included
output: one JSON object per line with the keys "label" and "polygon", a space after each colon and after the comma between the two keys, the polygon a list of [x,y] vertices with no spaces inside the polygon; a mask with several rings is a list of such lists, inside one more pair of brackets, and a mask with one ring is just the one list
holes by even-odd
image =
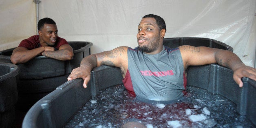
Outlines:
{"label": "outstretched right-hand arm of the man in gray, hand included", "polygon": [[246,66],[239,57],[231,51],[208,47],[179,46],[184,68],[190,65],[205,65],[218,63],[234,71],[233,79],[243,86],[242,77],[256,80],[256,68]]}

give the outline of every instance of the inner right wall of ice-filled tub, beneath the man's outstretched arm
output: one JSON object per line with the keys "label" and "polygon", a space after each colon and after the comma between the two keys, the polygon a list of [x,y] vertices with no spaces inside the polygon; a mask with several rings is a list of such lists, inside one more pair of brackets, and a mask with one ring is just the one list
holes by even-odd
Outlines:
{"label": "inner right wall of ice-filled tub, beneath the man's outstretched arm", "polygon": [[254,102],[256,81],[243,77],[243,87],[240,88],[233,79],[233,71],[218,64],[190,66],[187,79],[188,85],[203,88],[210,93],[230,99],[236,104],[237,112],[246,115],[256,125],[256,102]]}

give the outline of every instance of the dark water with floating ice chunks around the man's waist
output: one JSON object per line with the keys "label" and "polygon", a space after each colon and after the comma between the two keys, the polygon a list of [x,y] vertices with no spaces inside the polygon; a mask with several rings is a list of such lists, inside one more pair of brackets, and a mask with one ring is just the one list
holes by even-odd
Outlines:
{"label": "dark water with floating ice chunks around the man's waist", "polygon": [[[129,124],[130,123],[130,124]],[[143,102],[123,85],[101,90],[69,120],[66,128],[253,128],[236,104],[221,95],[187,86],[183,99],[171,104]]]}

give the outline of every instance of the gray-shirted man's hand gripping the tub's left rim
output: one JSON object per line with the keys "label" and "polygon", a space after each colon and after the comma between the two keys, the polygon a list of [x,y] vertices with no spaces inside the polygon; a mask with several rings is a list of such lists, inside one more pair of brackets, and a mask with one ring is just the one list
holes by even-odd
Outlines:
{"label": "gray-shirted man's hand gripping the tub's left rim", "polygon": [[78,68],[73,69],[71,74],[68,76],[68,81],[76,78],[84,79],[84,88],[87,87],[88,82],[90,81],[90,69],[86,68],[86,66],[80,66]]}

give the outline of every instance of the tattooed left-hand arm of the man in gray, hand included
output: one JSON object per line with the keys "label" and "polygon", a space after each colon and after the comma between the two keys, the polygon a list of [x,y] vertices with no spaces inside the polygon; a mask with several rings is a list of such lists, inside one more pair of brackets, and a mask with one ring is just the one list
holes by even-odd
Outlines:
{"label": "tattooed left-hand arm of the man in gray, hand included", "polygon": [[84,79],[84,88],[86,88],[90,80],[90,71],[101,65],[116,66],[119,67],[123,73],[126,73],[128,68],[126,46],[121,46],[111,51],[104,51],[85,57],[78,68],[75,68],[68,76],[68,80],[82,78]]}

